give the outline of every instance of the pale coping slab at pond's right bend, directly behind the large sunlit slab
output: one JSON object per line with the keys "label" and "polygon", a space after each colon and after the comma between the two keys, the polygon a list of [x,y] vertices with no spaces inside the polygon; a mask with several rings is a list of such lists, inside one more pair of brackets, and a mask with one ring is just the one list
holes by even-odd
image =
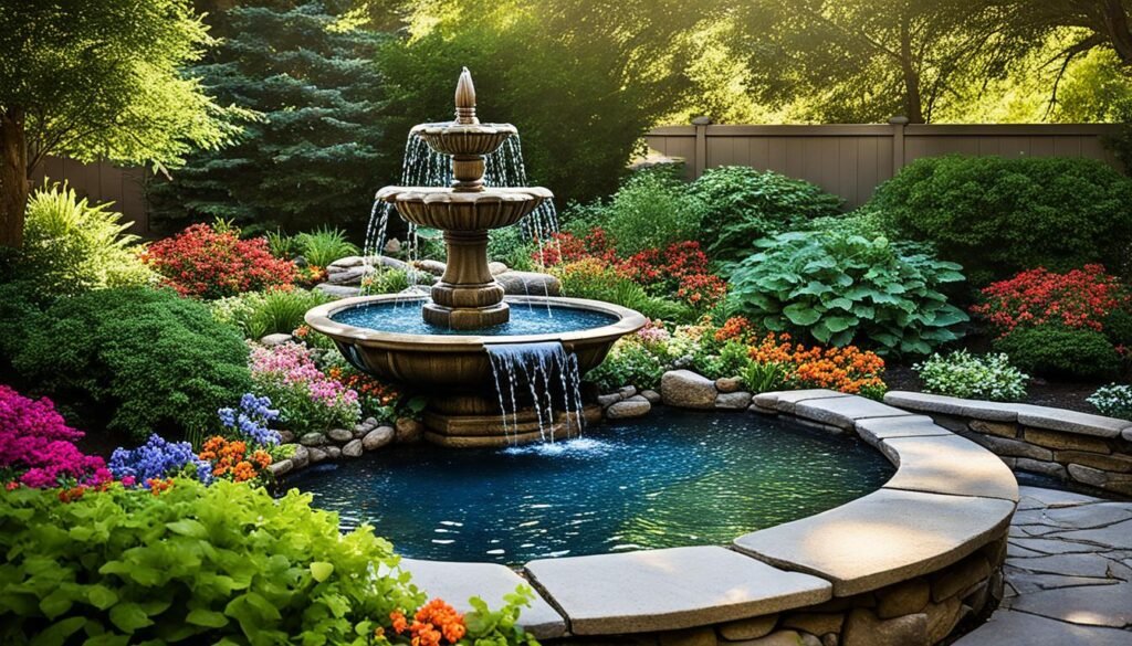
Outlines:
{"label": "pale coping slab at pond's right bend, directly behind the large sunlit slab", "polygon": [[1018,502],[1018,480],[997,456],[955,434],[887,438],[881,450],[898,465],[885,489],[1001,498]]}

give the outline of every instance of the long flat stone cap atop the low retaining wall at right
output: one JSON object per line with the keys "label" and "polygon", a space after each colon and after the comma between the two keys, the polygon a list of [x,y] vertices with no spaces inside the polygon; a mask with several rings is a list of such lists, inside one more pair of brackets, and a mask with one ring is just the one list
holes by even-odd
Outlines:
{"label": "long flat stone cap atop the low retaining wall at right", "polygon": [[1124,433],[1126,438],[1132,437],[1132,421],[1032,404],[1001,404],[904,390],[890,391],[884,396],[884,402],[914,411],[974,417],[990,422],[1018,422],[1036,429],[1082,436],[1117,438]]}

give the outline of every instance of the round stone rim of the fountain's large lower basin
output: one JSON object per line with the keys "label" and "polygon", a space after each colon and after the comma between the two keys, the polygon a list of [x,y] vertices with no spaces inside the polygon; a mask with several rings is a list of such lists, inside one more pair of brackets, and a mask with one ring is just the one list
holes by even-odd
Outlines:
{"label": "round stone rim of the fountain's large lower basin", "polygon": [[[506,296],[504,301],[512,305],[535,305],[535,307],[558,307],[575,310],[589,310],[617,317],[618,320],[609,325],[583,328],[573,331],[552,334],[528,334],[528,335],[423,335],[404,334],[394,331],[383,331],[372,328],[346,325],[333,320],[331,317],[345,310],[363,308],[374,304],[403,303],[411,307],[413,303],[424,303],[427,295],[404,295],[404,294],[378,294],[372,296],[353,296],[332,301],[318,305],[307,311],[305,317],[307,325],[316,330],[333,337],[344,337],[365,346],[372,347],[395,347],[397,350],[417,350],[419,352],[466,352],[478,350],[489,345],[514,345],[522,343],[542,343],[557,341],[563,345],[575,342],[598,342],[616,339],[627,334],[643,328],[649,320],[635,310],[606,303],[602,301],[591,301],[588,299],[571,299],[566,296]],[[409,312],[409,316],[418,316],[418,312]]]}

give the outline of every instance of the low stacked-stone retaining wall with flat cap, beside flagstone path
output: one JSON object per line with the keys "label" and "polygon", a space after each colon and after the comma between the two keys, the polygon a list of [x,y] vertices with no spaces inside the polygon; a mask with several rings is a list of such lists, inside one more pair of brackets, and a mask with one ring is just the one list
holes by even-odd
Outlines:
{"label": "low stacked-stone retaining wall with flat cap, beside flagstone path", "polygon": [[923,393],[892,391],[884,400],[925,413],[1011,468],[1132,496],[1132,421]]}

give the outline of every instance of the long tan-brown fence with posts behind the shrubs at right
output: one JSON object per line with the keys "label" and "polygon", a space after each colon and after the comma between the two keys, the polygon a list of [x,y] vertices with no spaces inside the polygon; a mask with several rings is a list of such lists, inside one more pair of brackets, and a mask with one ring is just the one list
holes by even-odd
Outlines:
{"label": "long tan-brown fence with posts behind the shrubs at right", "polygon": [[[893,120],[898,121],[898,120]],[[906,164],[950,153],[1065,156],[1120,163],[1105,145],[1115,124],[907,126],[692,126],[650,131],[649,147],[687,164],[689,179],[718,166],[752,166],[816,183],[844,198],[848,207]]]}

